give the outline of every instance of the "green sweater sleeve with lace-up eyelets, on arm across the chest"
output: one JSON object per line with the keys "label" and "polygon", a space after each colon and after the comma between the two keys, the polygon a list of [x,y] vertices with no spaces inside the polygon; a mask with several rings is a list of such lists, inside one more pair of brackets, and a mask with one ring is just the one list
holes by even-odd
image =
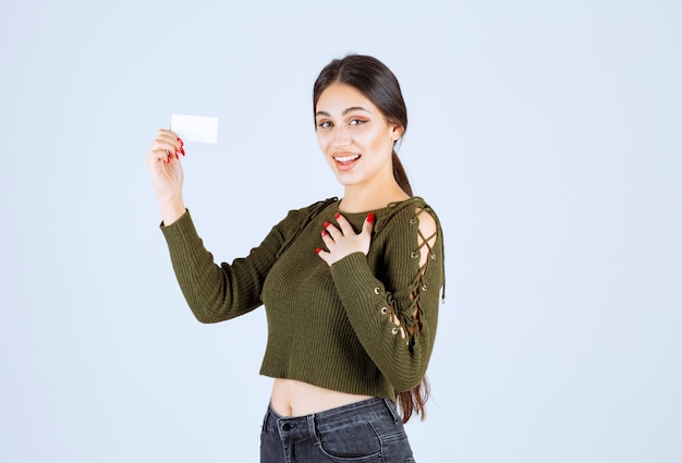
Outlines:
{"label": "green sweater sleeve with lace-up eyelets, on arm across the chest", "polygon": [[[395,223],[383,230],[389,237],[379,265],[354,253],[334,263],[331,273],[360,342],[395,391],[402,392],[422,381],[431,355],[444,281],[443,247],[439,226],[436,234],[423,240],[416,216],[391,222]],[[428,253],[424,264],[423,246]]]}

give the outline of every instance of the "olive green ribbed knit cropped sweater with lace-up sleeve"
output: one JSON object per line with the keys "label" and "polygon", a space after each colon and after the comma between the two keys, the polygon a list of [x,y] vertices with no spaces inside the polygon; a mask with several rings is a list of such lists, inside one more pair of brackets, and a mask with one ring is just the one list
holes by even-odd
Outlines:
{"label": "olive green ribbed knit cropped sweater with lace-up sleeve", "polygon": [[[337,198],[291,210],[247,257],[214,263],[190,212],[161,230],[190,308],[202,322],[243,315],[263,304],[268,343],[260,374],[322,388],[395,399],[423,379],[434,348],[443,287],[442,232],[419,197],[375,210],[369,253],[327,265],[325,221],[336,223]],[[367,212],[342,214],[356,232]],[[418,216],[438,224],[429,259]],[[397,325],[397,322],[400,325]]]}

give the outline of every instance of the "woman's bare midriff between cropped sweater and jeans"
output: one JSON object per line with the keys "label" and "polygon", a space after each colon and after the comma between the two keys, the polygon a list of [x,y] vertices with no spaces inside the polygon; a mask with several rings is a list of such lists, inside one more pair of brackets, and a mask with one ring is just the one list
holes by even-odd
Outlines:
{"label": "woman's bare midriff between cropped sweater and jeans", "polygon": [[270,406],[281,416],[303,416],[370,398],[370,395],[332,391],[294,379],[276,378]]}

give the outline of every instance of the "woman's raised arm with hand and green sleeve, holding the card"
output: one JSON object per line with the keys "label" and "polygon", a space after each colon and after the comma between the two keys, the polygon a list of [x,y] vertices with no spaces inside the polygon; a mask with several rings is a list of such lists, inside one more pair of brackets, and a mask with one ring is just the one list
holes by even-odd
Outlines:
{"label": "woman's raised arm with hand and green sleeve, holding the card", "polygon": [[263,283],[279,254],[310,215],[332,199],[290,211],[248,257],[235,259],[231,265],[216,265],[185,209],[179,154],[185,154],[182,141],[174,132],[163,129],[159,130],[147,153],[147,169],[163,218],[161,230],[178,282],[199,321],[215,322],[236,317],[261,304]]}

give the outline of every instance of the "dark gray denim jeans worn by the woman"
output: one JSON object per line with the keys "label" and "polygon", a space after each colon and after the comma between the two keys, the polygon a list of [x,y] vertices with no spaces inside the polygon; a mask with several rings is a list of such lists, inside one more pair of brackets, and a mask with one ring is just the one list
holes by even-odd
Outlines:
{"label": "dark gray denim jeans worn by the woman", "polygon": [[368,399],[306,416],[283,417],[268,406],[260,463],[414,463],[393,402]]}

